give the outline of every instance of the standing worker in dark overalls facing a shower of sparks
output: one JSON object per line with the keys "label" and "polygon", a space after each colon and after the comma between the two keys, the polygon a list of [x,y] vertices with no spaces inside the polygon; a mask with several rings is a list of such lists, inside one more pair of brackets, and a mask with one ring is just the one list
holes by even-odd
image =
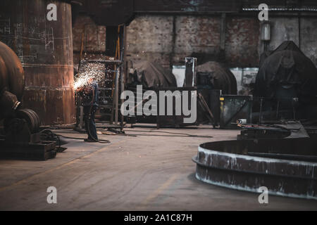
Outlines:
{"label": "standing worker in dark overalls facing a shower of sparks", "polygon": [[[84,106],[84,121],[85,129],[88,134],[88,139],[85,141],[97,141],[96,123],[94,122],[94,113],[98,108],[98,91],[97,82],[92,82],[86,87],[89,91],[82,91],[82,105]],[[86,89],[86,90],[87,90]]]}

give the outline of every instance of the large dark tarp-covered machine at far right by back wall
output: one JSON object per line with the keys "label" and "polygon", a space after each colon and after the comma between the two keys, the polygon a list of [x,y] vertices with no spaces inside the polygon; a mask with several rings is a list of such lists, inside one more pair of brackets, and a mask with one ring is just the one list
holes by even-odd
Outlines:
{"label": "large dark tarp-covered machine at far right by back wall", "polygon": [[256,75],[253,122],[316,120],[317,69],[293,41],[263,53]]}

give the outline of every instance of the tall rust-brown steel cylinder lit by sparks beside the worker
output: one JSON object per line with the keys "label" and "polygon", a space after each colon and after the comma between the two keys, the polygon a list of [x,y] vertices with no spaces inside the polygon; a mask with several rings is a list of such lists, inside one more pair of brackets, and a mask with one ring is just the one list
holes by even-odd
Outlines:
{"label": "tall rust-brown steel cylinder lit by sparks beside the worker", "polygon": [[[56,21],[47,19],[56,5]],[[25,71],[23,107],[44,125],[75,122],[71,6],[66,1],[1,0],[0,40]]]}

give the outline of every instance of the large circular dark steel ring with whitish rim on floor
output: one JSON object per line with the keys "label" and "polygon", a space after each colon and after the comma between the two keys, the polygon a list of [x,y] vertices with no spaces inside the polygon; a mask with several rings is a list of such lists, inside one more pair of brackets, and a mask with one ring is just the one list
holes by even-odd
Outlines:
{"label": "large circular dark steel ring with whitish rim on floor", "polygon": [[[302,149],[300,148],[302,146]],[[248,152],[296,153],[316,155],[310,139],[270,139],[215,141],[203,143],[197,156],[196,178],[208,184],[259,193],[317,200],[317,162],[263,158]],[[297,150],[297,151],[296,151]],[[262,192],[261,192],[262,193]]]}

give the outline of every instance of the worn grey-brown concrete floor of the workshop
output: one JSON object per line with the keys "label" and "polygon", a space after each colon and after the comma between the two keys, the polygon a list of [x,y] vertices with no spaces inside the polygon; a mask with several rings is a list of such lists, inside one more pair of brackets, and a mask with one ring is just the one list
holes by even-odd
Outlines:
{"label": "worn grey-brown concrete floor of the workshop", "polygon": [[[258,194],[204,184],[194,178],[199,143],[235,139],[239,131],[128,128],[127,134],[99,135],[111,143],[67,139],[68,149],[42,161],[0,160],[0,210],[317,210],[316,200]],[[159,136],[142,136],[140,134]],[[213,136],[184,137],[162,133]],[[56,133],[73,137],[70,130]],[[163,135],[163,136],[162,136]],[[48,204],[46,188],[57,188]]]}

